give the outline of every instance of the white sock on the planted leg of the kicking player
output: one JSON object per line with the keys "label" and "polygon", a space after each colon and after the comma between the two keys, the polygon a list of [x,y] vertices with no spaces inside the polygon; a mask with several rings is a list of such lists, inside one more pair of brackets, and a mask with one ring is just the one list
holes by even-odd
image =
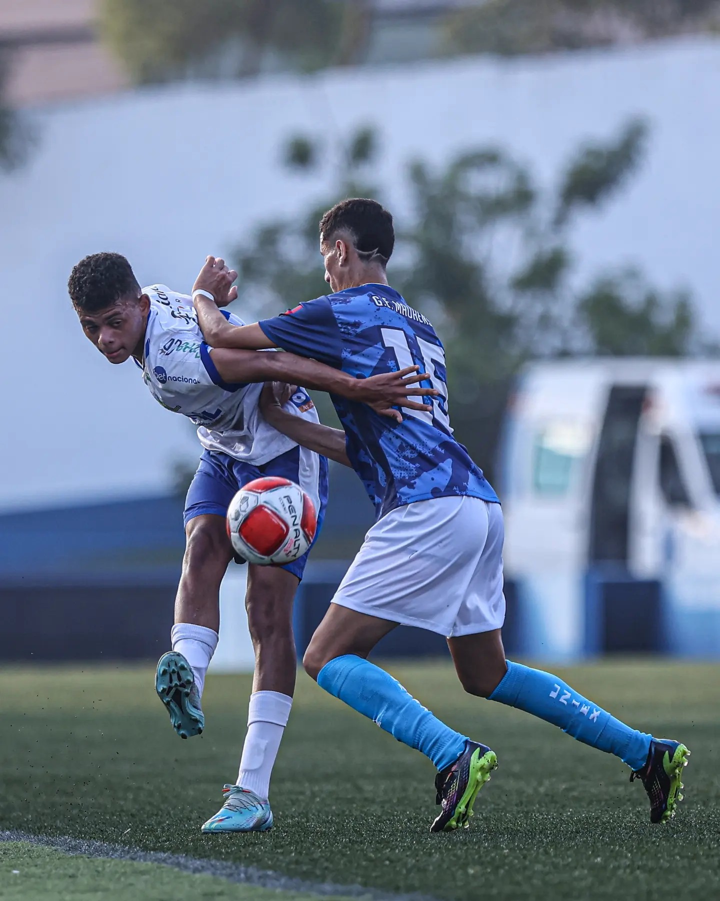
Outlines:
{"label": "white sock on the planted leg of the kicking player", "polygon": [[247,708],[247,735],[242,747],[238,786],[267,800],[270,774],[290,716],[293,698],[278,691],[256,691]]}

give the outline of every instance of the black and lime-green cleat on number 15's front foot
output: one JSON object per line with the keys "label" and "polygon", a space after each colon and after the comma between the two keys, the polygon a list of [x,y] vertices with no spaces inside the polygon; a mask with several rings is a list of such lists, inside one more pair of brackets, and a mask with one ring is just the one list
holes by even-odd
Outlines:
{"label": "black and lime-green cleat on number 15's front foot", "polygon": [[430,832],[450,832],[460,826],[467,828],[475,798],[497,766],[495,751],[480,742],[466,742],[465,750],[455,763],[437,774],[436,803],[442,805],[443,810],[430,826]]}

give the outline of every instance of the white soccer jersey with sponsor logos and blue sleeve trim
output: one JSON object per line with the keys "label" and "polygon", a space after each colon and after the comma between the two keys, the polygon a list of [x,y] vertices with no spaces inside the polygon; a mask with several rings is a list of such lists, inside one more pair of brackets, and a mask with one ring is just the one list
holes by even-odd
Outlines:
{"label": "white soccer jersey with sponsor logos and blue sleeve trim", "polygon": [[[263,466],[295,447],[266,423],[257,403],[261,384],[229,385],[220,378],[202,338],[190,296],[165,285],[144,287],[150,298],[142,377],[155,399],[198,426],[202,447]],[[235,325],[244,325],[229,315]],[[272,351],[268,351],[272,352]],[[317,423],[310,396],[301,388],[286,409]]]}

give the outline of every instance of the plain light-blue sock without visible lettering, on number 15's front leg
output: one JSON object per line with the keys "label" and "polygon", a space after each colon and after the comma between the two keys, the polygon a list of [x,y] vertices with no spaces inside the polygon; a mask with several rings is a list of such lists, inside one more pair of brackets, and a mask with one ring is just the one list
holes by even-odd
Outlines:
{"label": "plain light-blue sock without visible lettering, on number 15's front leg", "polygon": [[344,654],[318,673],[318,685],[364,714],[403,744],[422,751],[438,770],[465,750],[467,738],[441,723],[390,673],[369,660]]}

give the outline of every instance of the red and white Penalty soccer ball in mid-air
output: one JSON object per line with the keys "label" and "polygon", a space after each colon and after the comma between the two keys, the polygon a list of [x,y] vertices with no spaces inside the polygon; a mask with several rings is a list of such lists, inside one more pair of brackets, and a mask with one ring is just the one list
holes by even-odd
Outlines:
{"label": "red and white Penalty soccer ball in mid-air", "polygon": [[228,507],[233,549],[248,563],[284,566],[308,550],[318,528],[310,497],[288,478],[256,478],[240,488]]}

